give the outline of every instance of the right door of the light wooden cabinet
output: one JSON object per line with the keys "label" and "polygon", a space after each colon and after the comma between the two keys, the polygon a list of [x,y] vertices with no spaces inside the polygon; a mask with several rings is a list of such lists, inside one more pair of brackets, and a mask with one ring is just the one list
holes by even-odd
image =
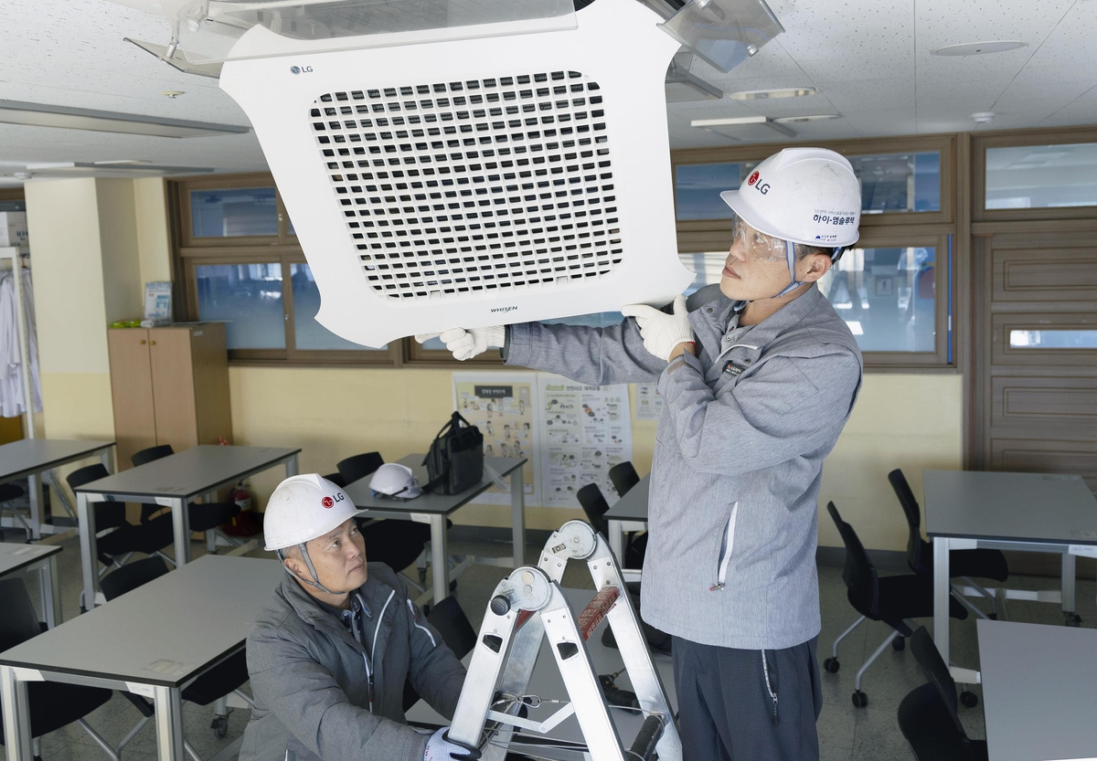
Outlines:
{"label": "right door of the light wooden cabinet", "polygon": [[156,407],[156,443],[176,452],[199,443],[190,328],[151,328],[149,360]]}

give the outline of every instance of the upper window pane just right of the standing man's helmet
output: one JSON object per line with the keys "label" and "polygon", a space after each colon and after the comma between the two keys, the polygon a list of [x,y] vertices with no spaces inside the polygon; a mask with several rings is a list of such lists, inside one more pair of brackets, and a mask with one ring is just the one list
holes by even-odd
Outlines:
{"label": "upper window pane just right of the standing man's helmet", "polygon": [[940,212],[941,156],[921,154],[850,156],[861,181],[861,214]]}

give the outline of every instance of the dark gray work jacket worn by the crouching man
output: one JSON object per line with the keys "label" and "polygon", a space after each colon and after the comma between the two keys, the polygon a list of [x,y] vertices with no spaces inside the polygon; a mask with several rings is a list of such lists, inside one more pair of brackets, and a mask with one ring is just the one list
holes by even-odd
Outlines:
{"label": "dark gray work jacket worn by the crouching man", "polygon": [[422,761],[428,736],[405,723],[405,678],[438,713],[453,716],[464,666],[399,577],[382,563],[367,569],[358,591],[372,620],[372,659],[296,580],[282,579],[248,633],[256,706],[240,761]]}

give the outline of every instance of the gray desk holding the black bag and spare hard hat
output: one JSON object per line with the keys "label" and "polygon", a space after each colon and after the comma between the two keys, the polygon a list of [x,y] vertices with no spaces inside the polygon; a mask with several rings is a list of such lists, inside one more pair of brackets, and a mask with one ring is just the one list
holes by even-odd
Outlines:
{"label": "gray desk holding the black bag and spare hard hat", "polygon": [[[411,468],[411,473],[419,480],[419,486],[423,486],[430,480],[427,477],[427,468],[422,465],[425,456],[422,454],[409,454],[398,461],[400,465]],[[431,587],[433,594],[431,597],[437,604],[450,593],[449,553],[445,550],[445,519],[459,508],[472,502],[495,484],[487,473],[488,468],[493,469],[500,478],[510,476],[510,520],[513,532],[514,557],[513,565],[509,563],[494,563],[488,558],[480,558],[479,563],[504,565],[507,568],[518,568],[525,564],[525,491],[522,466],[527,462],[525,457],[485,457],[484,478],[480,479],[479,484],[462,491],[460,495],[425,493],[409,500],[392,497],[374,497],[373,492],[370,491],[372,475],[348,485],[343,491],[354,502],[354,507],[359,510],[369,511],[371,516],[410,519],[417,523],[430,524],[430,564],[433,577],[433,586]],[[427,599],[430,598],[425,594],[417,602],[421,603]]]}

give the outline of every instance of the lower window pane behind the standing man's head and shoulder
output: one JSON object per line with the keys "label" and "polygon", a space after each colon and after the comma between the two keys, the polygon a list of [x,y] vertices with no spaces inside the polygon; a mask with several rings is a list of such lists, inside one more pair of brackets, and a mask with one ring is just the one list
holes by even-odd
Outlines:
{"label": "lower window pane behind the standing man's head and shoulder", "polygon": [[932,246],[855,248],[819,280],[819,289],[846,320],[861,351],[936,349]]}

